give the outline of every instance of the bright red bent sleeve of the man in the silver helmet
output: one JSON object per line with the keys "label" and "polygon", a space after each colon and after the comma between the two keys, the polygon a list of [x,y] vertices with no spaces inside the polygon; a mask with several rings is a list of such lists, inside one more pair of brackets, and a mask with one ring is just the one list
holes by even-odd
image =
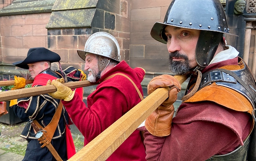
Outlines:
{"label": "bright red bent sleeve of the man in the silver helmet", "polygon": [[127,111],[124,95],[114,87],[98,89],[87,98],[88,108],[75,93],[71,101],[62,101],[72,121],[90,142]]}

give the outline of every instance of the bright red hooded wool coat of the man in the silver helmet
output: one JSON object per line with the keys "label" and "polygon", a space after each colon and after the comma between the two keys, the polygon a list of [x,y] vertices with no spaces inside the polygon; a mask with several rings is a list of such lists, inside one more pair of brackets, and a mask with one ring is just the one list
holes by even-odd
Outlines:
{"label": "bright red hooded wool coat of the man in the silver helmet", "polygon": [[[135,87],[124,76],[117,75],[103,81],[115,73],[129,76],[143,94],[140,83],[145,75],[144,70],[142,68],[132,69],[126,62],[122,61],[98,80],[100,84],[87,97],[88,107],[76,93],[71,101],[62,101],[71,115],[72,121],[83,134],[84,145],[87,145],[141,101]],[[135,130],[108,160],[142,161],[146,160],[145,157],[146,153],[140,131]]]}

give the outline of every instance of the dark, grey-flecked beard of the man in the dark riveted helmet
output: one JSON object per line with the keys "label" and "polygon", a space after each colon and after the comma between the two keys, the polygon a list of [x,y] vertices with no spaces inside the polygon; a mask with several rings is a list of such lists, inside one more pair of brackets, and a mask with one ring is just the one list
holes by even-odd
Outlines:
{"label": "dark, grey-flecked beard of the man in the dark riveted helmet", "polygon": [[[173,57],[183,58],[185,61],[173,61]],[[169,70],[173,72],[174,75],[182,75],[191,70],[189,66],[189,60],[187,55],[182,55],[180,52],[171,52],[169,54]]]}

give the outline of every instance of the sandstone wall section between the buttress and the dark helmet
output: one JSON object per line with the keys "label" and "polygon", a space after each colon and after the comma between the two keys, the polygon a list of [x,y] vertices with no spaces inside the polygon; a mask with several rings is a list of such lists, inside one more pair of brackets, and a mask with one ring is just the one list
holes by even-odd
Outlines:
{"label": "sandstone wall section between the buttress and the dark helmet", "polygon": [[155,22],[163,22],[172,0],[131,0],[130,66],[170,72],[167,47],[150,36]]}

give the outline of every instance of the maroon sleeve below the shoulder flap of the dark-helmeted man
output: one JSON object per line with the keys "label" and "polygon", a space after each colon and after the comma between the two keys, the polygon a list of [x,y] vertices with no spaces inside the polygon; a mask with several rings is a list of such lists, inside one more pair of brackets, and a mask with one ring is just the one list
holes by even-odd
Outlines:
{"label": "maroon sleeve below the shoulder flap of the dark-helmeted man", "polygon": [[228,151],[230,146],[240,144],[236,134],[228,127],[205,121],[174,124],[167,137],[152,136],[148,131],[144,137],[147,160],[203,161],[216,152]]}

